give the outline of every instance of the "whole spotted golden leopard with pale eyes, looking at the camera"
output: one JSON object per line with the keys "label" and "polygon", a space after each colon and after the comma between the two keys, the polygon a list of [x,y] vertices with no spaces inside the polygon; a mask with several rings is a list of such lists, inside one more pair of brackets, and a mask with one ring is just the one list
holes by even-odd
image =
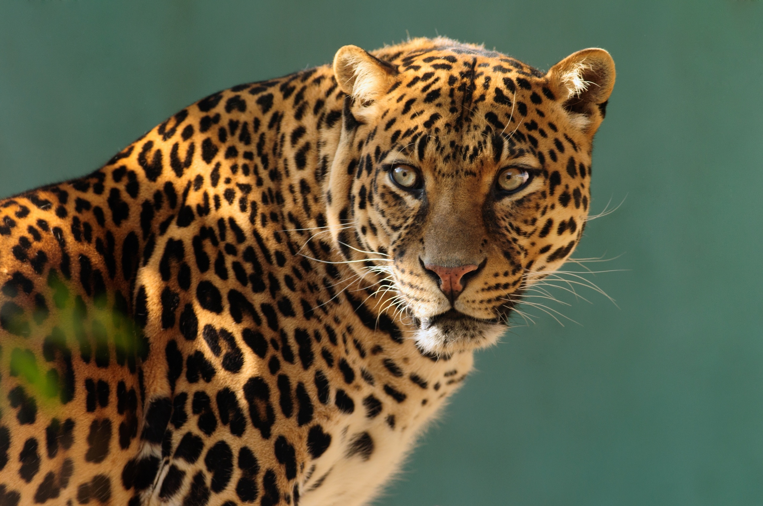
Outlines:
{"label": "whole spotted golden leopard with pale eyes, looking at the camera", "polygon": [[368,504],[578,245],[614,80],[349,45],[0,201],[0,504]]}

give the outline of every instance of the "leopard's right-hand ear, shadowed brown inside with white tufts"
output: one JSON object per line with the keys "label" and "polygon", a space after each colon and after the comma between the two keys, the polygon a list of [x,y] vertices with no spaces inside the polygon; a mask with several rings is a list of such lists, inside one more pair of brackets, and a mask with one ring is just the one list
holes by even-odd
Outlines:
{"label": "leopard's right-hand ear, shadowed brown inside with white tufts", "polygon": [[604,119],[615,85],[615,63],[610,53],[597,47],[572,53],[552,66],[546,76],[571,123],[593,135]]}

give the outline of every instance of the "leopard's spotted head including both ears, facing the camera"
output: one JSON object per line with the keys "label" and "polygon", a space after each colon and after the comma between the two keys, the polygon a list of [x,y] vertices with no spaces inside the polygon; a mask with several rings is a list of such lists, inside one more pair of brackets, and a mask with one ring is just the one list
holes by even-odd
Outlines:
{"label": "leopard's spotted head including both ears, facing the camera", "polygon": [[543,74],[428,42],[337,53],[349,121],[330,224],[420,348],[449,354],[494,343],[526,288],[575,250],[614,67],[606,51],[584,50]]}

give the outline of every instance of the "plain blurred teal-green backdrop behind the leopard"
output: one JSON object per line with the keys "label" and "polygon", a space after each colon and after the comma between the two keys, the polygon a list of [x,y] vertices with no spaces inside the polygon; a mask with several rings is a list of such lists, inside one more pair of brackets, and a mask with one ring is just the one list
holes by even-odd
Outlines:
{"label": "plain blurred teal-green backdrop behind the leopard", "polygon": [[[0,195],[83,175],[217,89],[443,34],[617,85],[577,257],[611,297],[533,308],[379,504],[763,504],[763,2],[0,5]],[[577,268],[572,265],[571,267]],[[566,300],[566,299],[565,299]],[[518,324],[523,325],[521,319]]]}

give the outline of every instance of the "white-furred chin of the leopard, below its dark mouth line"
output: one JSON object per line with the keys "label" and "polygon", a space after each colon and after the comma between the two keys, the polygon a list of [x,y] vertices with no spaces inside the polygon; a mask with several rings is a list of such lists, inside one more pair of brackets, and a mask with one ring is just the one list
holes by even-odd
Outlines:
{"label": "white-furred chin of the leopard, below its dark mouth line", "polygon": [[433,323],[431,318],[423,318],[414,339],[419,348],[427,353],[452,355],[491,346],[507,329],[504,324],[488,321],[465,319]]}

